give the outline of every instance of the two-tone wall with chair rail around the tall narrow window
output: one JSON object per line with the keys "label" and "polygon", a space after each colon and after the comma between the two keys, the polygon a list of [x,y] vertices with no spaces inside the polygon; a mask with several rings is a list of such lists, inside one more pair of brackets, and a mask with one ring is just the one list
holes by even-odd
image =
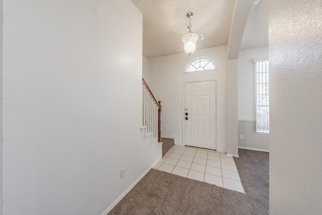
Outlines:
{"label": "two-tone wall with chair rail around the tall narrow window", "polygon": [[[268,47],[239,52],[238,57],[238,147],[269,150],[269,135],[256,133],[256,68],[254,59],[268,57]],[[240,134],[244,139],[240,139]]]}

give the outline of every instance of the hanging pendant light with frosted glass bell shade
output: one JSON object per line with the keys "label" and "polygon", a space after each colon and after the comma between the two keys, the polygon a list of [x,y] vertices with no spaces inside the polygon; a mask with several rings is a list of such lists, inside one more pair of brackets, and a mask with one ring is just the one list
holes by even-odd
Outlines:
{"label": "hanging pendant light with frosted glass bell shade", "polygon": [[[189,54],[189,56],[196,50],[197,40],[203,39],[202,34],[197,35],[197,34],[192,33],[192,31],[191,31],[192,25],[191,25],[190,18],[192,16],[193,16],[193,13],[191,13],[191,12],[187,14],[187,17],[189,18],[189,25],[188,25],[189,31],[181,39],[183,42],[184,48],[185,48],[185,52],[187,54]],[[199,37],[201,37],[201,39],[199,39]]]}

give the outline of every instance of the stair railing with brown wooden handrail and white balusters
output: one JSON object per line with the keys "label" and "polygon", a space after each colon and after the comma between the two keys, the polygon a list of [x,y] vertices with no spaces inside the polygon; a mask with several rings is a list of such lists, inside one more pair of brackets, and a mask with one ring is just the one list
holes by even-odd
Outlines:
{"label": "stair railing with brown wooden handrail and white balusters", "polygon": [[152,133],[152,140],[161,141],[161,101],[156,101],[150,88],[142,79],[142,125],[146,133]]}

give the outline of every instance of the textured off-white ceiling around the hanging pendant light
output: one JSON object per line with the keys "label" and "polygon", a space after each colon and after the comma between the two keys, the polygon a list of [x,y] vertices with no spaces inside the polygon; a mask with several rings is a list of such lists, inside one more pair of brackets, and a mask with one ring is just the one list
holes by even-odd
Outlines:
{"label": "textured off-white ceiling around the hanging pendant light", "polygon": [[[268,2],[268,0],[262,1]],[[248,20],[252,24],[247,24],[248,30],[244,33],[245,36],[252,38],[243,38],[241,44],[243,49],[252,48],[248,43],[254,43],[254,32],[258,35],[265,30],[265,26],[256,22],[260,20],[266,24],[265,19],[258,17],[262,16],[262,12],[256,10],[265,7],[262,1],[252,8]],[[189,19],[186,16],[189,12],[194,13],[191,18],[193,33],[204,36],[204,40],[197,42],[197,49],[226,45],[236,4],[236,0],[132,0],[132,2],[143,14],[143,55],[147,58],[184,52],[181,38],[189,30],[187,28]],[[268,45],[268,8],[266,14]],[[257,32],[252,25],[263,30]],[[266,39],[260,38],[261,41]],[[257,39],[258,37],[255,41]]]}

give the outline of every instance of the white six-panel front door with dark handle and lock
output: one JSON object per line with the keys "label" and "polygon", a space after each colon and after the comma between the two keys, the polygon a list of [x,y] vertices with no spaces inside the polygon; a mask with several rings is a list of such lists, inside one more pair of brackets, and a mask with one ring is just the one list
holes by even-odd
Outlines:
{"label": "white six-panel front door with dark handle and lock", "polygon": [[216,81],[185,84],[185,146],[216,150]]}

